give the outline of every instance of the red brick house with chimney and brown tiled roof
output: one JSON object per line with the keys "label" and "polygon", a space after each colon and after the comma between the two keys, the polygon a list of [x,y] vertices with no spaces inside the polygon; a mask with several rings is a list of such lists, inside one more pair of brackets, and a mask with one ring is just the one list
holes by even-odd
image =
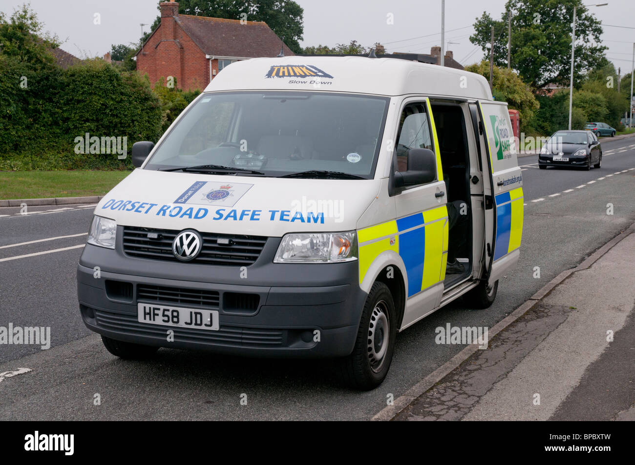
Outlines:
{"label": "red brick house with chimney and brown tiled roof", "polygon": [[179,15],[178,3],[159,3],[161,24],[137,52],[137,71],[154,84],[168,76],[186,91],[204,89],[225,66],[237,60],[293,52],[264,22]]}

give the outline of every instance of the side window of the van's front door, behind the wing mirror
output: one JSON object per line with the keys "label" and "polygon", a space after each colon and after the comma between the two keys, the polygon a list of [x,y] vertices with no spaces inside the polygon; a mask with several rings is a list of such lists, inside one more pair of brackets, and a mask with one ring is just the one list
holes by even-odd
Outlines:
{"label": "side window of the van's front door, behind the wing mirror", "polygon": [[428,115],[424,103],[410,103],[401,113],[397,143],[397,171],[407,171],[408,150],[411,148],[432,149],[432,138]]}

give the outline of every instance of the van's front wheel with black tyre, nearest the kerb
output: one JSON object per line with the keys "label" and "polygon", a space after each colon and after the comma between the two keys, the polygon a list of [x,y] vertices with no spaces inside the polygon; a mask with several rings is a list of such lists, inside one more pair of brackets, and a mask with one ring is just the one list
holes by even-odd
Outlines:
{"label": "van's front wheel with black tyre, nearest the kerb", "polygon": [[353,351],[338,361],[338,376],[346,386],[368,391],[382,384],[391,367],[397,336],[396,315],[388,286],[383,282],[373,284]]}

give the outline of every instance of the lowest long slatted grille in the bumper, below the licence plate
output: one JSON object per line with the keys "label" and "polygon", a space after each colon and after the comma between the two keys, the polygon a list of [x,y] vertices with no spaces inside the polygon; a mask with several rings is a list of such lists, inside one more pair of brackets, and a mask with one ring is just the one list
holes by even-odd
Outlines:
{"label": "lowest long slatted grille in the bumper, below the licence plate", "polygon": [[[124,332],[135,336],[165,339],[167,326],[140,323],[137,315],[112,313],[92,309],[98,327],[110,331]],[[218,331],[169,327],[174,331],[175,340],[190,343],[217,343],[224,346],[276,347],[286,345],[287,330],[252,329],[239,326],[221,325]]]}

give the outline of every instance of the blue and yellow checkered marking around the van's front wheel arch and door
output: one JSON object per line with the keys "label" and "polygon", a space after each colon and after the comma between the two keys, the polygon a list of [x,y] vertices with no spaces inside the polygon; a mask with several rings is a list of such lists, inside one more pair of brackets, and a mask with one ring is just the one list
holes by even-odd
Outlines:
{"label": "blue and yellow checkered marking around the van's front wheel arch and door", "polygon": [[358,240],[359,282],[380,254],[393,251],[406,266],[411,297],[445,278],[448,209],[444,205],[364,228]]}

